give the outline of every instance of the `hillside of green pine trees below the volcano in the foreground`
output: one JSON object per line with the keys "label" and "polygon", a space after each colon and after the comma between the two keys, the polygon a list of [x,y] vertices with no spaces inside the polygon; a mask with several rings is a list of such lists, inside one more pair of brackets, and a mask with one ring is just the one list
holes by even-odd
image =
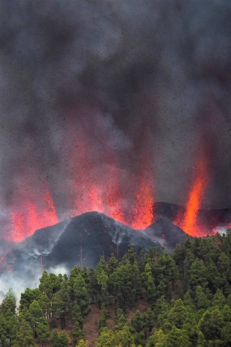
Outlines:
{"label": "hillside of green pine trees below the volcano in the foreground", "polygon": [[95,269],[44,271],[21,293],[19,314],[12,290],[3,299],[1,345],[229,347],[230,249],[231,234],[188,237],[172,256],[130,246],[121,261],[101,256]]}

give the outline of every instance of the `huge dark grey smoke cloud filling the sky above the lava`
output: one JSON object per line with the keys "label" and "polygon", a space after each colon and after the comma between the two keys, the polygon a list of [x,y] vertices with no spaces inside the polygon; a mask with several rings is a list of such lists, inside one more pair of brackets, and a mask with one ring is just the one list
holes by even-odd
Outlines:
{"label": "huge dark grey smoke cloud filling the sky above the lava", "polygon": [[148,162],[156,201],[184,204],[206,138],[204,207],[230,206],[229,1],[17,0],[0,13],[2,220],[22,177],[35,191],[46,177],[65,210],[80,139],[87,174]]}

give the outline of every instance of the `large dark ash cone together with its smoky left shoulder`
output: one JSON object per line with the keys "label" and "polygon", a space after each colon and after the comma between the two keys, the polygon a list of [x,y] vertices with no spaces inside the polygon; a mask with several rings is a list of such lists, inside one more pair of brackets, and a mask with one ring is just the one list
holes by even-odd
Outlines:
{"label": "large dark ash cone together with its smoky left shoulder", "polygon": [[96,266],[100,256],[105,259],[111,253],[121,258],[127,248],[133,244],[135,251],[140,252],[150,246],[160,246],[158,242],[140,231],[107,217],[99,212],[87,212],[69,221],[37,230],[34,235],[17,243],[6,254],[1,272],[11,269],[19,276],[32,276],[41,271],[41,257],[44,269],[64,266],[69,271],[85,259],[87,266]]}

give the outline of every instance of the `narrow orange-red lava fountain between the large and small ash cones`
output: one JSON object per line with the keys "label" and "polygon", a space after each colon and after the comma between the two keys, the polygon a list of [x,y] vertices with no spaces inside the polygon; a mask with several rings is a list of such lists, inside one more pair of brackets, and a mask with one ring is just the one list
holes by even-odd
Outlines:
{"label": "narrow orange-red lava fountain between the large and small ash cones", "polygon": [[153,203],[150,185],[142,182],[133,208],[133,229],[145,229],[153,223]]}

